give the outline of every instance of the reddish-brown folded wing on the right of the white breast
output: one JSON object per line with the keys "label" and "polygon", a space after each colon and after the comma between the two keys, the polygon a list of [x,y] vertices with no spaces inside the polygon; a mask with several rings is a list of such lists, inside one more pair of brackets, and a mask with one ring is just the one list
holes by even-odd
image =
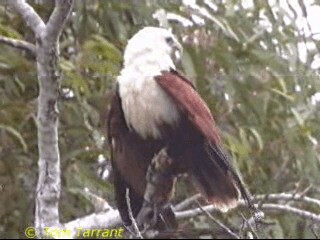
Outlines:
{"label": "reddish-brown folded wing on the right of the white breast", "polygon": [[[223,173],[223,175],[232,179],[242,197],[251,205],[250,195],[244,187],[239,174],[222,150],[219,131],[215,126],[213,116],[207,104],[194,89],[191,82],[173,70],[163,71],[162,74],[156,76],[155,79],[162,89],[172,98],[180,111],[187,116],[191,124],[204,136],[206,139],[206,155],[211,159],[212,163],[222,171],[221,173]],[[214,167],[211,172],[213,172],[213,170]],[[213,177],[211,178],[213,179]],[[208,179],[210,179],[210,177]],[[222,179],[224,179],[224,177],[222,177]]]}

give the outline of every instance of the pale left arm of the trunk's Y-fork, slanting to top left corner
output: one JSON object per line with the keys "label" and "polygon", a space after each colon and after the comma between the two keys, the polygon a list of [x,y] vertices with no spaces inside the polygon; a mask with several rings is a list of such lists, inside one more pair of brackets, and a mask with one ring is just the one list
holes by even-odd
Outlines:
{"label": "pale left arm of the trunk's Y-fork, slanting to top left corner", "polygon": [[24,19],[35,35],[40,36],[46,25],[36,11],[25,0],[7,1]]}

